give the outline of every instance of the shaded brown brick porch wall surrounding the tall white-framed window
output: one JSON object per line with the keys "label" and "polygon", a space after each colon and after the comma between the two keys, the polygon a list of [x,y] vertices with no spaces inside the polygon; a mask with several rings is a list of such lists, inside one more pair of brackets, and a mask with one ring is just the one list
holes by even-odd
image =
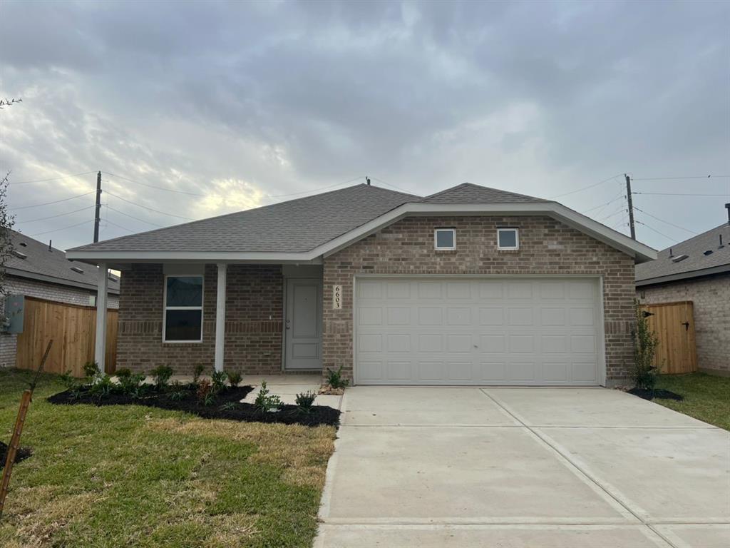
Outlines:
{"label": "shaded brown brick porch wall surrounding the tall white-framed window", "polygon": [[[163,343],[162,265],[133,265],[121,278],[117,367],[149,371],[169,365],[191,374],[212,370],[218,274],[206,265],[203,341]],[[283,275],[280,265],[228,265],[224,367],[242,373],[280,373]]]}

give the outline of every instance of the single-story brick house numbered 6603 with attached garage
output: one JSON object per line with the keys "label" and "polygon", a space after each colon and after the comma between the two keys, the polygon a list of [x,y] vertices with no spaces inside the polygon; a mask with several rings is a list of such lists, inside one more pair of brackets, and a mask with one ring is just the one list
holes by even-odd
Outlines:
{"label": "single-story brick house numbered 6603 with attached garage", "polygon": [[68,256],[123,272],[119,367],[604,385],[628,376],[634,264],[656,251],[557,202],[465,183],[428,197],[351,186]]}

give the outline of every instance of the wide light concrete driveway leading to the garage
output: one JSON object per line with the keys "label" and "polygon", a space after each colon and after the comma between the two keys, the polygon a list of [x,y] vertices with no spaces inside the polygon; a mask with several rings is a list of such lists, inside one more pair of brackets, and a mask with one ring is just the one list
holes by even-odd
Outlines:
{"label": "wide light concrete driveway leading to the garage", "polygon": [[354,387],[316,548],[730,546],[730,433],[610,389]]}

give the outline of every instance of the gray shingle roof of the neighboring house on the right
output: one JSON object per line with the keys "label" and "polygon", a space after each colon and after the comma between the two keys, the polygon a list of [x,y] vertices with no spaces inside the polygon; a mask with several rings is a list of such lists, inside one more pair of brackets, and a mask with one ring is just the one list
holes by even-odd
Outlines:
{"label": "gray shingle roof of the neighboring house on the right", "polygon": [[[720,246],[721,236],[722,247]],[[680,259],[683,255],[686,258]],[[680,260],[677,261],[677,259]],[[719,272],[730,272],[730,224],[728,223],[659,251],[655,261],[637,265],[636,279],[637,285],[650,285]]]}

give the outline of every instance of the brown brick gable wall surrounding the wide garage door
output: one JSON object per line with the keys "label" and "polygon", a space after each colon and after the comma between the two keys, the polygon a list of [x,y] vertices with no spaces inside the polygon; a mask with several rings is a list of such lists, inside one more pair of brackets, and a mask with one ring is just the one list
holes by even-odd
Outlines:
{"label": "brown brick gable wall surrounding the wide garage door", "polygon": [[[434,228],[456,227],[455,251],[434,251]],[[498,251],[497,227],[518,227],[520,249]],[[623,384],[633,359],[634,259],[543,216],[410,217],[324,261],[323,365],[352,376],[353,276],[357,274],[566,274],[604,276],[607,384]]]}

